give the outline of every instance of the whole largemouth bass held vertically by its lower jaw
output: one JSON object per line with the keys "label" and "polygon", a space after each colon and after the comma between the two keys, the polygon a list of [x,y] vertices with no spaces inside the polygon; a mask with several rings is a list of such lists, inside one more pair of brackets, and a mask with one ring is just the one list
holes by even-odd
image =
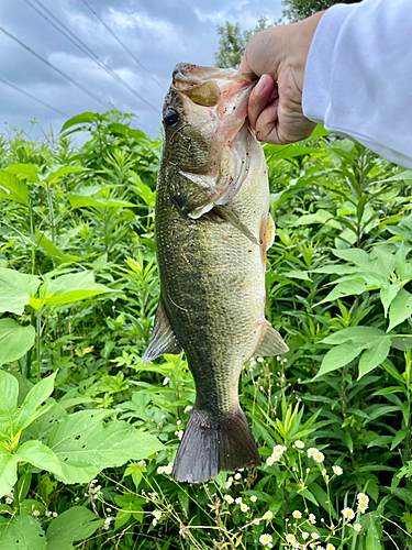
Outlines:
{"label": "whole largemouth bass held vertically by its lower jaw", "polygon": [[185,350],[197,398],[174,465],[200,483],[260,464],[238,402],[243,365],[288,351],[265,319],[275,238],[267,166],[247,123],[254,75],[179,64],[163,109],[155,238],[160,300],[144,362]]}

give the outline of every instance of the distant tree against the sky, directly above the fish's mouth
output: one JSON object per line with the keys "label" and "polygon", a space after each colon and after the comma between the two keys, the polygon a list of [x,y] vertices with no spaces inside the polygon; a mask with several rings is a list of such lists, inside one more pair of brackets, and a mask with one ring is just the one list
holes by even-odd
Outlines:
{"label": "distant tree against the sky, directly above the fish's mouth", "polygon": [[237,68],[241,64],[243,52],[250,36],[259,31],[264,31],[276,23],[269,24],[267,18],[260,18],[254,29],[242,31],[238,23],[218,25],[219,52],[214,54],[215,66],[220,68]]}

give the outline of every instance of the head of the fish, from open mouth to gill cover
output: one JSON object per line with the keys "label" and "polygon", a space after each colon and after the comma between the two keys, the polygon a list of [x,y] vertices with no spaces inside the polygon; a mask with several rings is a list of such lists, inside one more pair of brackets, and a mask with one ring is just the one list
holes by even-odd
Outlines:
{"label": "head of the fish, from open mouth to gill cover", "polygon": [[227,189],[236,189],[250,134],[248,98],[256,82],[253,74],[188,63],[172,72],[163,109],[164,156],[174,166],[176,193],[192,197],[186,205],[192,218],[223,204]]}

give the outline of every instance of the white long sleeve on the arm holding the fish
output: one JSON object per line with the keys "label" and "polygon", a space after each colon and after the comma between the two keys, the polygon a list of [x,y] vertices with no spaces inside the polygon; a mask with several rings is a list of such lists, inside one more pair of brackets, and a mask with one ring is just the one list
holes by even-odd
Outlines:
{"label": "white long sleeve on the arm holding the fish", "polygon": [[337,4],[321,19],[304,74],[303,113],[412,168],[412,2]]}

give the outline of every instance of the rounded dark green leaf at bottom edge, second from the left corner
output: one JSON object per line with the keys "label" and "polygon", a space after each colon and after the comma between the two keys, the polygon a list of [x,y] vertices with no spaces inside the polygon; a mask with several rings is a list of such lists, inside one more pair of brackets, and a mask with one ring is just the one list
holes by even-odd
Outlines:
{"label": "rounded dark green leaf at bottom edge, second from the left corner", "polygon": [[71,506],[54,519],[47,529],[47,550],[74,550],[74,542],[90,537],[103,519],[83,506]]}

